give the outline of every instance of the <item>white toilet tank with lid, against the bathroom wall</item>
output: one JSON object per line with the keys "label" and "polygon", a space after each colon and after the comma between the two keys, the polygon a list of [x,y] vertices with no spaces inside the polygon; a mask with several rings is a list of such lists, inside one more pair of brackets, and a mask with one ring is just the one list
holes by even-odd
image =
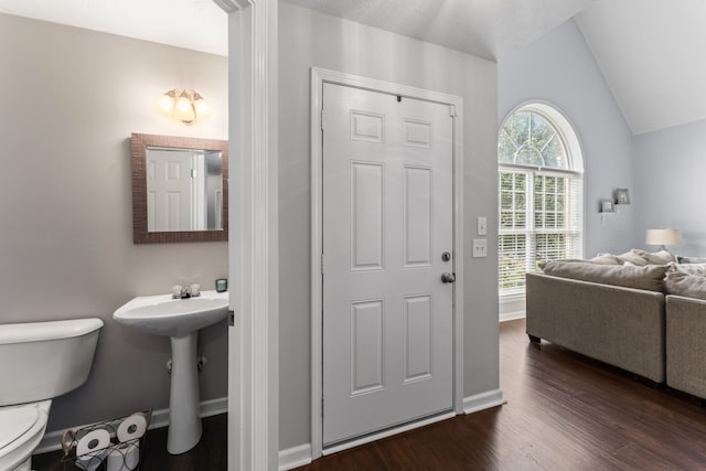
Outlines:
{"label": "white toilet tank with lid, against the bathroom wall", "polygon": [[51,399],[85,383],[103,321],[0,324],[0,406]]}

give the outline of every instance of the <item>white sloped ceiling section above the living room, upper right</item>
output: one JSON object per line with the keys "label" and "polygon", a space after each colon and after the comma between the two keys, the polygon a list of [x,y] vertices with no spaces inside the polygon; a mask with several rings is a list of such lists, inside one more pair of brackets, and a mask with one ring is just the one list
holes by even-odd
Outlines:
{"label": "white sloped ceiling section above the living room, upper right", "polygon": [[634,135],[706,119],[706,1],[600,0],[576,22]]}

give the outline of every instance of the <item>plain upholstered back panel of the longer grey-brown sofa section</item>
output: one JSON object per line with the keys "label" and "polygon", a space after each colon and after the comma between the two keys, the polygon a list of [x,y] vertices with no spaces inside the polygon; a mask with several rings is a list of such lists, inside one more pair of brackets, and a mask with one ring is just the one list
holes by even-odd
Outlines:
{"label": "plain upholstered back panel of the longer grey-brown sofa section", "polygon": [[544,339],[665,381],[664,293],[542,274],[527,274],[526,292],[526,331],[534,342]]}

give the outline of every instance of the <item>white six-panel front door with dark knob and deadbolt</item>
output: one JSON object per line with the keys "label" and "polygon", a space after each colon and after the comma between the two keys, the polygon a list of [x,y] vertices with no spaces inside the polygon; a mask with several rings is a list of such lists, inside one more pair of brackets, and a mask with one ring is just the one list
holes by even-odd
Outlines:
{"label": "white six-panel front door with dark knob and deadbolt", "polygon": [[452,408],[448,105],[323,85],[323,443]]}

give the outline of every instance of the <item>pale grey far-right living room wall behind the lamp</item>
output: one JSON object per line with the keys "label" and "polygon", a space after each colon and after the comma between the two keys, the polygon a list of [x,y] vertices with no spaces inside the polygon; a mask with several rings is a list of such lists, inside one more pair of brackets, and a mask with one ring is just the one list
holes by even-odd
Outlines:
{"label": "pale grey far-right living room wall behind the lamp", "polygon": [[645,229],[673,227],[682,232],[676,254],[706,256],[706,121],[648,132],[633,139],[635,171],[635,247]]}

